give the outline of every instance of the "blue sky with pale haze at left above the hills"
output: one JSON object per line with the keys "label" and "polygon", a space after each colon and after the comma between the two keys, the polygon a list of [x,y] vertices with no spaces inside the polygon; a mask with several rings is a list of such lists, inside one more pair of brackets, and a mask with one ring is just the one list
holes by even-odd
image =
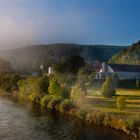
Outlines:
{"label": "blue sky with pale haze at left above the hills", "polygon": [[140,0],[0,0],[0,49],[138,40]]}

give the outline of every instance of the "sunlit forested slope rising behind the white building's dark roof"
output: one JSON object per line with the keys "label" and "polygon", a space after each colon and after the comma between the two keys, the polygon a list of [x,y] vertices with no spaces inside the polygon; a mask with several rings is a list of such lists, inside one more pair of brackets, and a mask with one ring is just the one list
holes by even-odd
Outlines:
{"label": "sunlit forested slope rising behind the white building's dark roof", "polygon": [[115,54],[109,62],[120,64],[140,64],[140,41]]}

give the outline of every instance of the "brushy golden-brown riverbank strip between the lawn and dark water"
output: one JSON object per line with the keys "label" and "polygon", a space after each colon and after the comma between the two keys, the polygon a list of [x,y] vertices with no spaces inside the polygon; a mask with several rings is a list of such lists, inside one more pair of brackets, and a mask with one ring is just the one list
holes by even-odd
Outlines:
{"label": "brushy golden-brown riverbank strip between the lawn and dark water", "polygon": [[[49,105],[49,103],[48,103]],[[50,106],[46,108],[50,108]],[[130,115],[123,113],[112,113],[101,110],[90,110],[84,106],[82,108],[71,108],[67,111],[62,111],[61,103],[56,104],[52,109],[66,113],[68,115],[77,117],[83,121],[89,122],[94,125],[111,127],[116,130],[121,130],[128,135],[135,138],[140,138],[140,116]]]}

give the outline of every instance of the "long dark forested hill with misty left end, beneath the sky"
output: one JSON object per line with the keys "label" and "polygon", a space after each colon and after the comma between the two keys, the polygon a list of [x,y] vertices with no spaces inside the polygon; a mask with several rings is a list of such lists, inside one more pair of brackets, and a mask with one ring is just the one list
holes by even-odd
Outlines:
{"label": "long dark forested hill with misty left end, beneath the sky", "polygon": [[37,69],[41,64],[51,65],[60,59],[80,55],[86,61],[108,61],[122,50],[121,46],[51,44],[34,45],[17,49],[0,51],[0,57],[9,61],[16,70]]}

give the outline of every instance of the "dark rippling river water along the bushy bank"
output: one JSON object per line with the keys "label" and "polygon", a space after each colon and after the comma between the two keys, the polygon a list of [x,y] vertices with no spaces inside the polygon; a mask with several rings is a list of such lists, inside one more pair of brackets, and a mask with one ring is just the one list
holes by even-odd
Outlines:
{"label": "dark rippling river water along the bushy bank", "polygon": [[37,104],[0,97],[0,140],[132,140],[114,129],[86,124]]}

